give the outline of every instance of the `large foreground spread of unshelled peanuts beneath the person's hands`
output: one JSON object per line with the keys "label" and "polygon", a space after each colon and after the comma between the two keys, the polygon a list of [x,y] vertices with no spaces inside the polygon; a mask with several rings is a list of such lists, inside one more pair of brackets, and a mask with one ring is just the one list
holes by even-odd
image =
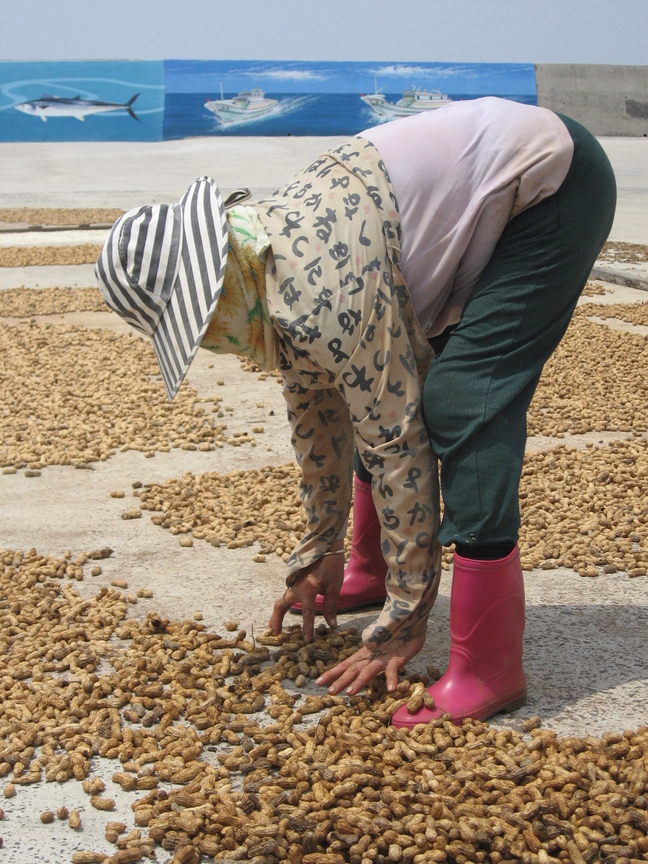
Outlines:
{"label": "large foreground spread of unshelled peanuts beneath the person's hands", "polygon": [[[235,622],[219,635],[131,620],[121,592],[84,600],[73,587],[106,554],[0,553],[4,796],[56,784],[41,820],[78,830],[65,782],[82,783],[114,852],[79,848],[76,864],[128,864],[158,845],[175,864],[648,855],[648,727],[561,739],[538,718],[498,731],[443,717],[397,730],[391,714],[427,677],[350,699],[309,684],[356,649],[354,631],[320,625],[305,645],[299,627],[254,639]],[[110,820],[102,773],[132,797],[132,828]]]}

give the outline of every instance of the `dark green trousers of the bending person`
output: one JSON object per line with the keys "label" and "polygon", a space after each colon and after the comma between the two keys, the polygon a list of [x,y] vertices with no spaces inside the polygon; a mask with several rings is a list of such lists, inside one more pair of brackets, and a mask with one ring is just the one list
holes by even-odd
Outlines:
{"label": "dark green trousers of the bending person", "polygon": [[[616,183],[602,147],[561,117],[574,155],[560,189],[504,229],[461,321],[437,337],[423,406],[441,461],[440,542],[517,542],[526,414],[612,227]],[[444,344],[445,343],[445,344]],[[356,473],[369,482],[356,454]]]}

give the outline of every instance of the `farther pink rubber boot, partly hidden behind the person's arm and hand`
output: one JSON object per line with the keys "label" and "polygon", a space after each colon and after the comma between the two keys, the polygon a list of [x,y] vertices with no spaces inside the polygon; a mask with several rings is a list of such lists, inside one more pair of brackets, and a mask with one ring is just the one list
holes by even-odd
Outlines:
{"label": "farther pink rubber boot, partly hidden behind the person's arm and hand", "polygon": [[[356,477],[351,555],[344,571],[337,611],[352,612],[382,604],[387,596],[386,575],[387,565],[380,551],[380,522],[371,495],[371,483]],[[323,602],[324,598],[318,594],[316,612],[321,613]],[[290,611],[301,615],[301,603],[295,603]]]}

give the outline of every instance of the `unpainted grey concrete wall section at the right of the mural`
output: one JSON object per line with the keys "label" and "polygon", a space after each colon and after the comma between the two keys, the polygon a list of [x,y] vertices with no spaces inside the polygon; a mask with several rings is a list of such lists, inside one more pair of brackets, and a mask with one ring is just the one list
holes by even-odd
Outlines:
{"label": "unpainted grey concrete wall section at the right of the mural", "polygon": [[538,64],[538,105],[595,135],[648,136],[648,66]]}

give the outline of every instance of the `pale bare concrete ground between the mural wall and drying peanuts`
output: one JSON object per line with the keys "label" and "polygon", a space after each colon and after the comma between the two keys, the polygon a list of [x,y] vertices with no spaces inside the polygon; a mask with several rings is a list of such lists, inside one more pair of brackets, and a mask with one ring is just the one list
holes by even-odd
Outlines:
{"label": "pale bare concrete ground between the mural wall and drying peanuts", "polygon": [[[0,144],[0,208],[122,207],[175,201],[201,174],[224,193],[270,193],[322,151],[329,137],[190,138],[154,143]],[[617,176],[611,239],[648,244],[648,139],[602,138]]]}

